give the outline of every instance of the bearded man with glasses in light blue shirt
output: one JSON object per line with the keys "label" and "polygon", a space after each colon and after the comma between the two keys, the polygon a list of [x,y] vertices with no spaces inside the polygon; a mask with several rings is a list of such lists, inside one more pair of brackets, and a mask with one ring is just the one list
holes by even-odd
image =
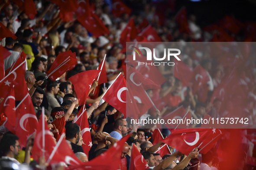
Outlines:
{"label": "bearded man with glasses in light blue shirt", "polygon": [[120,140],[123,138],[123,136],[127,135],[128,129],[129,128],[126,120],[118,118],[117,120],[115,120],[114,130],[110,133],[110,136]]}

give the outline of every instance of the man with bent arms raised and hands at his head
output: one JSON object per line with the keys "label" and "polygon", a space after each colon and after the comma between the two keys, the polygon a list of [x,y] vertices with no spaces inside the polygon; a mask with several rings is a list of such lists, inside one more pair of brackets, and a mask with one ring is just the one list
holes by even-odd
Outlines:
{"label": "man with bent arms raised and hands at his head", "polygon": [[109,149],[116,142],[118,142],[118,140],[110,137],[110,134],[107,132],[97,132],[94,135],[93,145],[91,146],[91,150],[88,154],[89,161],[96,157],[97,152],[99,152],[101,149]]}

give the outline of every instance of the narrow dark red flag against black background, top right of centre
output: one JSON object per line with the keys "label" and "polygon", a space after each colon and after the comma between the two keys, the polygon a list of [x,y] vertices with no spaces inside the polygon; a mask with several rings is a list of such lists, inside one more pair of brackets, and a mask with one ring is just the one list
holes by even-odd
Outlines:
{"label": "narrow dark red flag against black background, top right of centre", "polygon": [[182,7],[179,10],[177,15],[175,16],[175,20],[176,20],[176,22],[178,22],[179,31],[181,33],[185,32],[185,33],[189,34],[191,32],[188,27],[187,10],[185,7]]}

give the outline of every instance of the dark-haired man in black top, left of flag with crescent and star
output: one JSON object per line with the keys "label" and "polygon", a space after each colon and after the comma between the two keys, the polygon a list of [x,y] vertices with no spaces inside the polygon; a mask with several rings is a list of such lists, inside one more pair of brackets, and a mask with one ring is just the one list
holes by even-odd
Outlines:
{"label": "dark-haired man in black top, left of flag with crescent and star", "polygon": [[81,136],[81,129],[76,123],[71,123],[66,127],[66,140],[70,142],[74,153],[83,152],[81,146],[76,145]]}

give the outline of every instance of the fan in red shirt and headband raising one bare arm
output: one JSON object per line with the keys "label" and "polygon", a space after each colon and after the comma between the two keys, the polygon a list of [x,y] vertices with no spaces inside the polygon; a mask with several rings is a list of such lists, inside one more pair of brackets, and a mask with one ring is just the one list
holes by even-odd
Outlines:
{"label": "fan in red shirt and headband raising one bare arm", "polygon": [[[67,113],[65,113],[65,108],[63,107],[55,107],[52,109],[52,125],[55,125],[56,129],[58,129],[59,135],[62,135],[63,132],[66,132],[66,121],[68,120],[68,117],[71,115],[77,104],[78,100],[75,100],[71,104],[71,107],[69,107]],[[53,128],[53,130],[55,129],[55,127]]]}

